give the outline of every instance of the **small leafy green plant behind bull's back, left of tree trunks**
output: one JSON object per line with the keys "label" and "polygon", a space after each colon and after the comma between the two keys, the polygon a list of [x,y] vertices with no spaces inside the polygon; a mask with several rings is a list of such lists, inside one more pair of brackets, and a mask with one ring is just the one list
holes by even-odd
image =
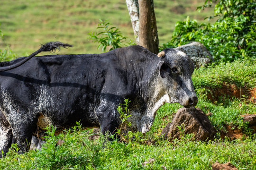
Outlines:
{"label": "small leafy green plant behind bull's back, left of tree trunks", "polygon": [[[98,49],[102,47],[102,51],[106,51],[107,47],[110,47],[109,51],[121,47],[121,44],[125,42],[127,37],[124,37],[119,29],[115,26],[110,27],[111,23],[102,21],[100,19],[97,29],[101,32],[92,32],[89,34],[89,39],[93,42],[98,42],[100,45]],[[130,41],[128,45],[134,45],[135,43]]]}

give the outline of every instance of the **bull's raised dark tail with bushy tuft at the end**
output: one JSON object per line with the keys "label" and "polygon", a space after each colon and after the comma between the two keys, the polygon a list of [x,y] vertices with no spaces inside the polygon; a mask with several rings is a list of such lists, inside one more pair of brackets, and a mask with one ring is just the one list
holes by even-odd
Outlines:
{"label": "bull's raised dark tail with bushy tuft at the end", "polygon": [[32,57],[36,56],[38,53],[42,51],[52,51],[55,52],[56,49],[60,50],[60,47],[68,48],[68,47],[73,47],[73,45],[67,44],[67,43],[62,43],[62,42],[47,42],[45,45],[41,45],[41,48],[32,54],[30,54],[28,57],[24,58],[23,60],[19,61],[18,63],[15,63],[10,66],[5,66],[5,67],[0,67],[0,71],[7,71],[13,68],[17,68],[18,66],[24,64],[27,62],[29,59]]}

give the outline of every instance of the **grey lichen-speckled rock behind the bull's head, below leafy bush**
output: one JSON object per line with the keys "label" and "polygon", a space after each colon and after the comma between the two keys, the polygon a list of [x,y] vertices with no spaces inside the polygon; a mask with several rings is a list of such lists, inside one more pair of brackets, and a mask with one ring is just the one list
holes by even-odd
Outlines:
{"label": "grey lichen-speckled rock behind the bull's head, below leafy bush", "polygon": [[176,49],[185,52],[192,59],[196,68],[204,67],[214,62],[210,52],[201,42],[191,42]]}

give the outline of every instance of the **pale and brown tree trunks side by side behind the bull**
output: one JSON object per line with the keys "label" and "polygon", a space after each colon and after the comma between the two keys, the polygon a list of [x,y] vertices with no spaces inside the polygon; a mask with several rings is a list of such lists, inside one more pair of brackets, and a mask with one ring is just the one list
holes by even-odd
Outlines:
{"label": "pale and brown tree trunks side by side behind the bull", "polygon": [[158,35],[153,0],[126,0],[137,44],[158,53]]}

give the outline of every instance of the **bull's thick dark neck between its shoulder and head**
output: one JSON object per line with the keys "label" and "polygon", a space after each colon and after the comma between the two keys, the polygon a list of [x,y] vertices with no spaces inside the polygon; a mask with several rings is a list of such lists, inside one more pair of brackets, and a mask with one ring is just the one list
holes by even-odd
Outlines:
{"label": "bull's thick dark neck between its shoulder and head", "polygon": [[144,103],[149,105],[155,104],[164,95],[163,86],[159,79],[158,64],[160,58],[156,54],[141,50],[140,47],[128,47],[132,51],[124,51],[125,48],[118,50],[118,54],[122,55],[122,67],[127,72],[128,86],[133,87],[136,96],[142,98]]}

